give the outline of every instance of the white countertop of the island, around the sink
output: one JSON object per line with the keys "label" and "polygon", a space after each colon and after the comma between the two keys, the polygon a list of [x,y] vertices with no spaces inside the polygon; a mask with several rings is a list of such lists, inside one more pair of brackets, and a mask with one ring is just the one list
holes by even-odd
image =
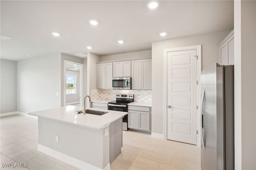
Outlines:
{"label": "white countertop of the island, around the sink", "polygon": [[111,110],[102,110],[102,109],[92,109],[86,108],[94,111],[103,111],[108,112],[104,115],[92,115],[86,113],[77,114],[76,111],[83,110],[84,107],[80,106],[64,106],[55,109],[48,109],[44,111],[37,111],[28,113],[28,115],[37,116],[38,118],[46,118],[55,121],[61,121],[65,123],[70,123],[82,127],[92,128],[99,130],[101,128],[105,128],[110,123],[122,118],[124,115],[127,115],[127,112],[120,112],[120,111],[111,111]]}

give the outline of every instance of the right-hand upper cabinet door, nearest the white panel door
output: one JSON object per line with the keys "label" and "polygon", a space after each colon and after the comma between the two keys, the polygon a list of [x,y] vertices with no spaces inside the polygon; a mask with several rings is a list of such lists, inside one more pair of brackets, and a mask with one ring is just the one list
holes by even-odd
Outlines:
{"label": "right-hand upper cabinet door, nearest the white panel door", "polygon": [[142,59],[142,89],[152,89],[152,59]]}

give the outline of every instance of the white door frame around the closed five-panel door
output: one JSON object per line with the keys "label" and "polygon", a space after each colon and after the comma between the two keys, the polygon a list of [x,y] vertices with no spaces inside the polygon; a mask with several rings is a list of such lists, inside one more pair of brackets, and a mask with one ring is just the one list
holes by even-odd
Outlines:
{"label": "white door frame around the closed five-panel door", "polygon": [[[192,45],[192,46],[185,46],[185,47],[176,47],[176,48],[167,48],[164,49],[164,103],[163,103],[163,111],[164,111],[164,139],[167,140],[167,53],[168,52],[174,52],[174,51],[185,51],[185,50],[192,50],[192,49],[196,49],[196,55],[197,55],[197,62],[196,62],[196,74],[197,74],[197,78],[196,80],[198,81],[198,85],[197,85],[197,106],[199,106],[199,102],[200,102],[200,73],[201,73],[201,46],[202,45]],[[197,109],[196,111],[196,116],[197,116],[197,131],[198,134],[196,135],[196,139],[197,139],[197,146],[200,146],[200,115],[199,115],[199,109]]]}

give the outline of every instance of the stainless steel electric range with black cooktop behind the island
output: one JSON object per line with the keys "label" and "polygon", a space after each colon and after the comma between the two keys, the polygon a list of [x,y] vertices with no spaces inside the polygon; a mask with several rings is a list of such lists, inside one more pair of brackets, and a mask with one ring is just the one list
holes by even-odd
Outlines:
{"label": "stainless steel electric range with black cooktop behind the island", "polygon": [[[133,94],[116,94],[116,100],[108,102],[108,110],[128,112],[128,103],[134,102]],[[128,130],[128,115],[123,117],[122,130]]]}

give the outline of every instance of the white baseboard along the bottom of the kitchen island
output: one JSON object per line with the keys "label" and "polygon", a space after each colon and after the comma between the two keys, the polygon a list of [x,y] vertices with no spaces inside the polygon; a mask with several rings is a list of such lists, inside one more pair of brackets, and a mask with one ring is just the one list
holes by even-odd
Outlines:
{"label": "white baseboard along the bottom of the kitchen island", "polygon": [[37,150],[39,150],[40,152],[43,152],[45,154],[48,154],[58,160],[61,160],[62,162],[66,162],[72,166],[82,169],[82,170],[110,170],[110,163],[108,163],[106,167],[101,169],[97,166],[88,164],[82,160],[78,160],[78,159],[68,156],[66,154],[62,154],[56,150],[53,150],[53,149],[43,146],[41,144],[38,144]]}

